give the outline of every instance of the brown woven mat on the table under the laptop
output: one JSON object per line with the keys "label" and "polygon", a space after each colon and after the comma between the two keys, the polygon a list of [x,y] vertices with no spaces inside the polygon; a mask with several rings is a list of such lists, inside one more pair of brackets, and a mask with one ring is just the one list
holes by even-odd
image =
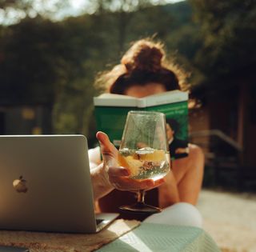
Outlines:
{"label": "brown woven mat on the table under the laptop", "polygon": [[90,252],[112,242],[139,225],[138,221],[116,220],[98,234],[59,234],[0,230],[0,245],[22,246],[30,252]]}

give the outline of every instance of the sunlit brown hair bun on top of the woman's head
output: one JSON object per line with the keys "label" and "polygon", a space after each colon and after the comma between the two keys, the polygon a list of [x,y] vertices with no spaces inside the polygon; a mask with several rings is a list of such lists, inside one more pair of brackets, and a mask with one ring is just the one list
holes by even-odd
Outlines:
{"label": "sunlit brown hair bun on top of the woman's head", "polygon": [[156,72],[162,67],[162,45],[149,40],[136,42],[122,57],[121,63],[128,72],[143,70]]}

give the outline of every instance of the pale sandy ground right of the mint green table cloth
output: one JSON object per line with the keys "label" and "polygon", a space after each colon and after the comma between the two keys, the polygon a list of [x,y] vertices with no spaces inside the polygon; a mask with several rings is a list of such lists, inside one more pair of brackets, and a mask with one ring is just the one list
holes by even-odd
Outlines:
{"label": "pale sandy ground right of the mint green table cloth", "polygon": [[198,210],[222,251],[256,252],[256,194],[202,190]]}

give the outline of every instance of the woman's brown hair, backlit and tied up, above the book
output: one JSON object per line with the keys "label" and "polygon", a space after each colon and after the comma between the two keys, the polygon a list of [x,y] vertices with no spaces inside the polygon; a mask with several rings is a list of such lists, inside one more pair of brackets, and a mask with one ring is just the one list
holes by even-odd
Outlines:
{"label": "woman's brown hair, backlit and tied up, above the book", "polygon": [[130,86],[161,83],[166,90],[184,90],[182,70],[166,62],[160,42],[146,38],[135,42],[121,59],[121,64],[98,76],[96,85],[104,85],[112,94],[124,94]]}

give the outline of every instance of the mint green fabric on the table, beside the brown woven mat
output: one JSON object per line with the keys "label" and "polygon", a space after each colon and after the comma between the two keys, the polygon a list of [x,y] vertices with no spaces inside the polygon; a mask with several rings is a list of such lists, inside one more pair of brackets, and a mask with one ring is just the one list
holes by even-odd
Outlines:
{"label": "mint green fabric on the table, beside the brown woven mat", "polygon": [[220,252],[204,230],[191,226],[143,223],[97,252]]}

